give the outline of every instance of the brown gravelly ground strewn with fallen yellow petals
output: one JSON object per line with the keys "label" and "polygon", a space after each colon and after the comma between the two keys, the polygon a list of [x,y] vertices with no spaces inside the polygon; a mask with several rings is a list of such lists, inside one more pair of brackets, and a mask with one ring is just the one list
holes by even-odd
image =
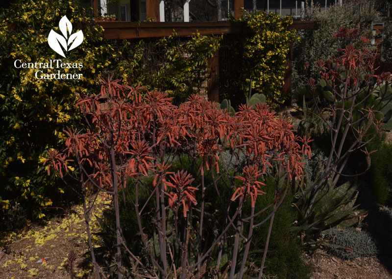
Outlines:
{"label": "brown gravelly ground strewn with fallen yellow petals", "polygon": [[[96,215],[102,215],[107,203],[104,198],[97,199],[90,214],[93,232],[99,230]],[[20,234],[2,236],[6,237],[7,244],[0,251],[0,278],[71,278],[68,255],[72,251],[76,255],[73,276],[91,278],[92,265],[85,261],[85,253],[89,253],[85,231],[82,206],[76,205],[64,218],[52,218],[46,226],[31,225]],[[98,245],[97,240],[95,238],[95,245]],[[39,260],[42,262],[37,262]]]}

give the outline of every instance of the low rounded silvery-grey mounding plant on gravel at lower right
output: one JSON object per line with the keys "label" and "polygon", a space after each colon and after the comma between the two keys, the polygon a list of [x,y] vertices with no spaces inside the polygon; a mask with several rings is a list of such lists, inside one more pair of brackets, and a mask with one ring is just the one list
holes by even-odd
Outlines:
{"label": "low rounded silvery-grey mounding plant on gravel at lower right", "polygon": [[377,246],[367,231],[348,228],[338,232],[334,229],[325,237],[332,242],[326,246],[327,250],[339,258],[354,259],[377,255]]}

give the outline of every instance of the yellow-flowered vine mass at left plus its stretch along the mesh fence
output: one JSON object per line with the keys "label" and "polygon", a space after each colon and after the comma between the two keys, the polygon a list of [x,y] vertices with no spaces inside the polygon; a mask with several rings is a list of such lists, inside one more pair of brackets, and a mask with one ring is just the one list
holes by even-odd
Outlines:
{"label": "yellow-flowered vine mass at left plus its stretch along the mesh fence", "polygon": [[[195,34],[186,40],[173,36],[157,40],[121,41],[112,48],[103,41],[101,26],[94,24],[78,0],[16,1],[0,14],[0,215],[42,218],[51,197],[63,190],[43,163],[45,150],[62,149],[66,127],[81,128],[83,120],[74,108],[77,94],[98,91],[99,75],[114,73],[132,86],[170,92],[180,102],[192,93],[205,92],[210,78],[208,59],[219,47],[220,37]],[[48,45],[51,29],[60,33],[63,16],[81,29],[84,41],[67,58]],[[38,80],[35,69],[15,68],[22,63],[83,63],[82,80]],[[58,69],[44,69],[57,73]],[[32,210],[31,210],[32,209]],[[31,214],[30,214],[31,213]],[[12,223],[12,218],[8,218]]]}

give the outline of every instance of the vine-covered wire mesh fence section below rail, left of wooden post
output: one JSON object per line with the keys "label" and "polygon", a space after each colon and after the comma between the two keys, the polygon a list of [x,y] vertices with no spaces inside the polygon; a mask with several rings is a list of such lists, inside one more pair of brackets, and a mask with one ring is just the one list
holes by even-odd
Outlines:
{"label": "vine-covered wire mesh fence section below rail, left of wooden post", "polygon": [[[142,86],[150,85],[151,77],[149,77],[149,75],[154,75],[154,88],[166,90],[166,87],[168,87],[168,80],[172,79],[172,83],[178,85],[175,87],[176,94],[182,92],[181,95],[183,95],[183,97],[189,96],[190,94],[198,94],[207,98],[208,92],[213,90],[213,83],[215,83],[215,90],[219,90],[219,77],[218,75],[212,75],[213,71],[215,73],[214,69],[216,68],[213,69],[212,65],[218,65],[218,55],[214,55],[213,58],[208,60],[209,67],[206,69],[205,62],[203,62],[205,59],[205,56],[203,55],[205,55],[205,53],[201,54],[199,57],[196,49],[193,49],[192,47],[182,47],[184,44],[190,43],[193,40],[193,37],[172,37],[171,39],[168,39],[166,43],[162,43],[160,40],[161,38],[108,40],[113,47],[114,52],[118,54],[113,58],[113,65],[122,63],[123,61],[129,61],[133,64],[133,66],[131,66],[131,73],[128,72],[127,74],[128,84],[134,86],[136,86],[137,83]],[[188,49],[191,51],[188,52]],[[171,62],[173,56],[175,56],[174,58],[177,60],[177,63],[174,61]],[[181,80],[176,80],[175,77],[178,76],[181,71],[189,70],[188,63],[196,64],[198,67],[191,70],[189,75],[185,75],[185,79],[181,77]],[[171,70],[166,72],[165,69],[168,67]],[[125,66],[124,70],[128,71],[129,69]],[[113,69],[108,70],[104,75],[110,74],[111,72],[113,72]],[[158,72],[162,73],[163,76],[157,74]],[[218,73],[218,71],[216,73]],[[122,73],[118,74],[121,75]],[[140,83],[140,80],[138,79],[140,76],[147,77],[149,83]],[[136,82],[135,78],[138,79],[139,82]],[[169,81],[169,83],[170,82],[171,81]],[[169,87],[171,88],[171,86]],[[172,92],[172,90],[169,92]]]}

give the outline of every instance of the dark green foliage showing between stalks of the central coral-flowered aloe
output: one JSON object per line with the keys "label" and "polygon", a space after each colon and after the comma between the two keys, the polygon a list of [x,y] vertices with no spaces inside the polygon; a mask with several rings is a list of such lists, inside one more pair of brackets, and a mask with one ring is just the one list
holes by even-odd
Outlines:
{"label": "dark green foliage showing between stalks of the central coral-flowered aloe", "polygon": [[[230,160],[230,155],[228,154],[227,160]],[[189,173],[197,172],[197,168],[193,168],[190,162],[188,161],[187,156],[185,155],[180,155],[181,160],[179,160],[179,157],[175,157],[173,162],[172,162],[172,167],[170,169],[171,172],[176,172],[178,170],[186,170]],[[199,164],[200,162],[197,162],[196,164]],[[223,168],[223,165],[220,164],[220,168]],[[244,164],[244,162],[240,162],[240,165]],[[230,171],[233,171],[234,168],[234,163],[231,162],[231,164],[228,165],[228,169]],[[201,176],[200,175],[194,175],[195,181],[193,182],[194,185],[197,185],[201,183]],[[149,196],[149,191],[152,189],[152,182],[153,182],[154,176],[149,175],[147,177],[143,178],[143,183],[146,186],[146,189],[144,187],[140,187],[140,196],[139,196],[139,202],[140,204],[144,204],[147,201],[147,198]],[[210,243],[211,245],[213,244],[213,238],[221,231],[222,227],[222,220],[224,220],[224,210],[222,207],[222,204],[220,202],[220,199],[217,198],[215,188],[213,186],[213,179],[211,176],[210,172],[206,172],[205,176],[205,185],[209,185],[206,187],[206,202],[205,202],[205,208],[204,208],[204,237],[203,237],[203,242],[204,243]],[[265,181],[263,181],[266,185],[263,186],[263,191],[266,192],[266,194],[263,195],[258,195],[257,200],[256,200],[256,209],[255,212],[260,211],[264,207],[268,206],[273,200],[274,200],[274,195],[275,195],[275,183],[273,179],[270,177],[267,177]],[[236,181],[235,183],[238,183]],[[217,181],[217,188],[219,189],[221,193],[221,198],[223,201],[228,201],[230,197],[232,196],[232,191],[228,189],[227,185],[230,184],[230,181],[228,180],[227,177],[222,177],[220,180]],[[135,181],[133,179],[129,179],[127,183],[127,190],[129,191],[128,193],[132,197],[133,200],[135,200]],[[150,189],[150,190],[147,190]],[[196,191],[196,197],[197,200],[201,198],[201,193],[198,193],[200,191]],[[126,204],[124,205],[121,203],[120,205],[120,219],[121,222],[124,224],[122,227],[123,230],[123,235],[125,237],[125,242],[127,245],[129,245],[129,249],[135,254],[135,255],[145,255],[142,250],[142,243],[141,243],[141,238],[139,234],[139,230],[137,226],[134,224],[137,223],[137,216],[135,214],[134,210],[130,210],[130,207],[132,207],[131,201],[128,198],[128,195],[125,194],[126,196]],[[311,272],[311,266],[305,263],[304,259],[302,258],[302,250],[301,246],[299,243],[299,239],[295,238],[292,234],[291,227],[293,222],[297,218],[297,212],[292,206],[292,202],[294,200],[294,194],[290,194],[287,199],[282,203],[281,207],[277,210],[273,226],[272,226],[272,231],[271,231],[271,237],[270,237],[270,243],[269,243],[269,250],[267,254],[267,261],[265,265],[265,271],[264,273],[269,276],[268,278],[290,278],[290,279],[306,279],[309,278],[310,272]],[[150,199],[149,203],[146,206],[146,209],[144,210],[142,217],[142,223],[143,223],[143,228],[144,228],[144,233],[148,236],[153,236],[149,238],[149,242],[151,245],[151,251],[154,255],[157,255],[156,253],[159,253],[159,243],[158,239],[156,237],[156,234],[154,234],[154,227],[157,225],[156,224],[156,217],[153,214],[153,210],[156,208],[156,201],[154,199]],[[251,208],[251,202],[250,199],[248,199],[245,202],[245,205],[243,207],[243,217],[247,217],[250,215],[250,208]],[[231,211],[229,213],[230,216],[234,214],[235,211],[235,206],[231,208]],[[257,224],[264,220],[270,213],[272,212],[272,208],[267,210],[266,212],[258,215],[255,217],[254,224]],[[191,209],[191,215],[189,218],[189,222],[193,230],[191,230],[191,240],[190,240],[190,245],[189,245],[189,254],[193,255],[195,258],[197,258],[197,247],[198,247],[198,226],[199,226],[199,211]],[[103,267],[105,271],[108,271],[108,278],[115,278],[116,273],[114,268],[114,260],[115,260],[115,247],[116,247],[116,229],[115,229],[115,215],[114,211],[112,209],[109,209],[108,211],[105,212],[104,216],[102,219],[99,220],[99,226],[101,228],[101,231],[96,234],[100,236],[100,245],[95,249],[96,255],[98,257],[98,261],[100,265]],[[173,211],[170,210],[168,214],[168,222],[167,222],[167,239],[170,243],[172,243],[173,250],[172,253],[174,255],[174,261],[175,261],[175,266],[180,265],[180,254],[178,253],[179,247],[176,243],[176,240],[173,236]],[[178,227],[179,231],[182,232],[185,224],[184,222],[179,221],[178,222]],[[250,253],[249,253],[249,258],[246,262],[246,272],[244,275],[244,278],[252,278],[252,277],[257,277],[258,275],[258,269],[260,268],[261,265],[261,260],[263,258],[263,253],[264,253],[264,246],[265,246],[265,241],[266,237],[268,234],[268,229],[269,229],[269,221],[264,223],[263,225],[257,227],[253,231],[253,236],[252,236],[252,244],[250,248]],[[248,226],[243,226],[241,229],[241,233],[244,236],[247,236],[248,234]],[[221,264],[220,264],[220,270],[223,273],[224,270],[231,264],[231,257],[232,257],[232,251],[231,247],[234,242],[234,236],[235,235],[235,230],[234,228],[230,228],[227,233],[227,245],[224,246],[223,248],[223,253],[222,253],[222,258],[221,258]],[[183,235],[180,233],[180,237]],[[245,241],[243,239],[240,240],[240,251],[243,250],[245,247]],[[215,247],[214,250],[212,251],[212,255],[216,255],[218,252],[218,247]],[[242,255],[243,252],[240,252],[240,255]],[[141,257],[142,258],[142,257]],[[237,259],[237,265],[238,268],[241,265],[241,260],[242,257],[240,256]],[[129,262],[128,257],[123,257],[123,265],[125,267],[125,272],[132,272],[132,264]],[[207,270],[210,271],[211,269],[215,269],[216,267],[216,258],[211,257],[208,260],[207,264]],[[206,278],[211,278],[213,276],[212,273],[208,273],[204,275]]]}

